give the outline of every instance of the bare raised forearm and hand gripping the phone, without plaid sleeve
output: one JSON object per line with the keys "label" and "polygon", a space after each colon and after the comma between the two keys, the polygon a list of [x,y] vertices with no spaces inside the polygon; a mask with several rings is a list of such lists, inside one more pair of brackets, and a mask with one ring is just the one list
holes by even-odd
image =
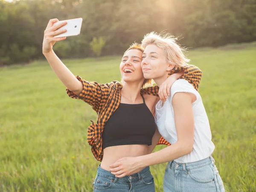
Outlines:
{"label": "bare raised forearm and hand gripping the phone, without plaid sleeve", "polygon": [[79,95],[83,90],[83,84],[79,81],[73,73],[62,63],[58,56],[53,51],[52,47],[57,41],[63,41],[66,37],[63,38],[54,38],[53,36],[59,35],[66,32],[66,30],[59,29],[61,26],[66,25],[66,22],[56,23],[58,19],[51,19],[44,31],[44,40],[43,40],[43,54],[54,73],[58,76],[61,82],[76,95]]}

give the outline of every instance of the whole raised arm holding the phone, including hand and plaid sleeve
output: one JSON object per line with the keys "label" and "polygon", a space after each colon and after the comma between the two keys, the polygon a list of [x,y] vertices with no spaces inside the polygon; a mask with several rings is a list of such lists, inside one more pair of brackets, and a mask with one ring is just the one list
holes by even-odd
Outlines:
{"label": "whole raised arm holding the phone, including hand and plaid sleeve", "polygon": [[99,109],[107,102],[108,93],[113,83],[100,84],[97,82],[85,81],[79,76],[74,76],[73,73],[62,63],[58,56],[53,51],[52,47],[57,41],[62,41],[64,38],[54,38],[53,36],[65,32],[59,29],[67,24],[56,23],[58,19],[51,19],[44,31],[43,54],[49,62],[54,73],[58,76],[61,82],[67,87],[67,94],[73,99],[81,99],[92,106],[93,110],[98,112]]}

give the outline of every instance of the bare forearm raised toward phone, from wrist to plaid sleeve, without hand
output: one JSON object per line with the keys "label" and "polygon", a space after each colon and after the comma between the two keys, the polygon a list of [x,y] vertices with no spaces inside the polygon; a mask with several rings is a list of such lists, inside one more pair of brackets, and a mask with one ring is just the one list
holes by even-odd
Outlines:
{"label": "bare forearm raised toward phone, from wrist to plaid sleeve, without hand", "polygon": [[49,62],[54,73],[58,76],[61,82],[75,94],[79,95],[83,89],[82,83],[76,79],[73,73],[62,63],[58,56],[53,52],[45,53],[45,58]]}

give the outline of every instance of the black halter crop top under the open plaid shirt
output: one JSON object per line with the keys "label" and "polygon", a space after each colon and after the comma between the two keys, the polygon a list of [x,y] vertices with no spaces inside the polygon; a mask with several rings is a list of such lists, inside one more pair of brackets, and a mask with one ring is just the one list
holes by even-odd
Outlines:
{"label": "black halter crop top under the open plaid shirt", "polygon": [[155,131],[154,116],[144,98],[141,104],[120,103],[102,133],[103,149],[116,145],[151,145]]}

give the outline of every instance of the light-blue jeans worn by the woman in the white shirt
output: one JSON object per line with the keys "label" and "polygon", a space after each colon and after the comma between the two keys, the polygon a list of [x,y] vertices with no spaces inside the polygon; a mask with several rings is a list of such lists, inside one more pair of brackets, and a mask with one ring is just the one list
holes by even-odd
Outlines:
{"label": "light-blue jeans worn by the woman in the white shirt", "polygon": [[167,164],[163,180],[164,192],[225,192],[212,156],[193,163]]}

